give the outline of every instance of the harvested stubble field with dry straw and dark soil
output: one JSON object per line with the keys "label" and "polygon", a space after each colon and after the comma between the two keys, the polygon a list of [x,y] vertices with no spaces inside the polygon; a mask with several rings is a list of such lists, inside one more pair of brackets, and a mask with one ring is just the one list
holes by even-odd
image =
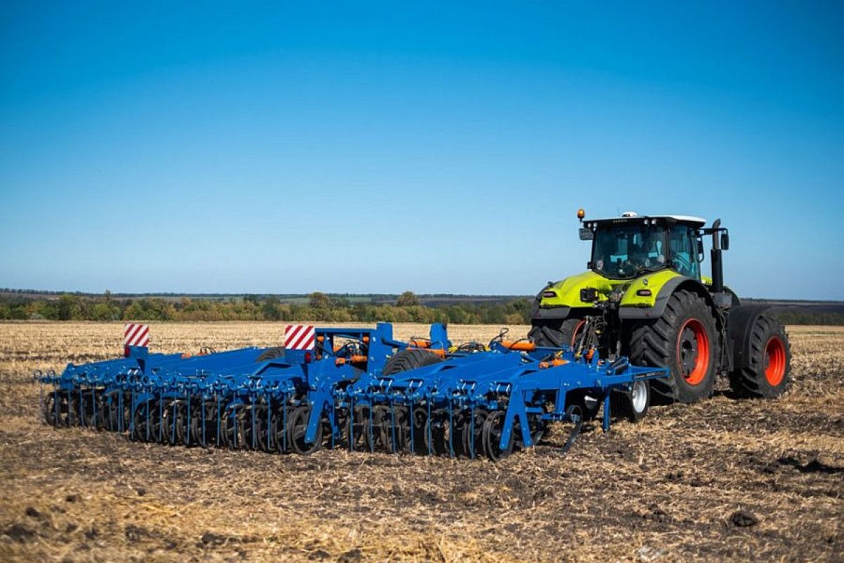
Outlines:
{"label": "harvested stubble field with dry straw and dark soil", "polygon": [[[557,429],[500,463],[167,447],[41,424],[31,371],[114,357],[121,331],[0,323],[0,560],[844,560],[844,328],[789,328],[794,381],[778,400],[735,400],[722,382],[608,435],[588,426],[565,455]],[[282,331],[154,325],[152,346],[268,346]]]}

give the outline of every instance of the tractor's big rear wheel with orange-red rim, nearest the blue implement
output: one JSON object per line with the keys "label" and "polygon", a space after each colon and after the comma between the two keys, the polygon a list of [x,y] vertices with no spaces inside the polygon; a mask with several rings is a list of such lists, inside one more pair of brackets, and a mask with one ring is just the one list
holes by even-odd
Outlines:
{"label": "tractor's big rear wheel with orange-red rim, nearest the blue implement", "polygon": [[668,298],[662,317],[633,328],[630,360],[670,370],[667,378],[651,380],[657,401],[694,403],[712,394],[721,357],[718,345],[709,304],[701,295],[678,290]]}

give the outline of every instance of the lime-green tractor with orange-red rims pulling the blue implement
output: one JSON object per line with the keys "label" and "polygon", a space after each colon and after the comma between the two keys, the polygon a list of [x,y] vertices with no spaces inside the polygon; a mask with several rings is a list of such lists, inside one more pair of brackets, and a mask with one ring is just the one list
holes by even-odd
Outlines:
{"label": "lime-green tractor with orange-red rims pulling the blue implement", "polygon": [[[584,222],[580,209],[577,216],[581,240],[592,241],[589,269],[539,292],[528,334],[534,343],[667,367],[668,378],[633,389],[663,403],[709,397],[718,374],[728,374],[742,396],[786,389],[787,334],[766,306],[743,306],[724,285],[729,235],[720,219],[706,227],[705,219],[681,215],[628,212]],[[712,237],[711,278],[701,275],[705,235]],[[588,408],[594,402],[586,399]]]}

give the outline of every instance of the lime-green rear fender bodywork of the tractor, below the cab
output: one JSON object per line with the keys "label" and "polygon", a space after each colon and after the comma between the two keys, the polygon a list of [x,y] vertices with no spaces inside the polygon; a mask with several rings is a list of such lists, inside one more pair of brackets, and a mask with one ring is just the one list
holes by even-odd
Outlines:
{"label": "lime-green rear fender bodywork of the tractor, below the cab", "polygon": [[570,309],[592,308],[596,297],[599,301],[608,300],[609,294],[616,290],[622,292],[621,307],[652,307],[663,285],[678,277],[683,276],[668,269],[635,279],[609,279],[592,271],[578,273],[546,286],[537,296],[538,310],[534,317],[567,317]]}

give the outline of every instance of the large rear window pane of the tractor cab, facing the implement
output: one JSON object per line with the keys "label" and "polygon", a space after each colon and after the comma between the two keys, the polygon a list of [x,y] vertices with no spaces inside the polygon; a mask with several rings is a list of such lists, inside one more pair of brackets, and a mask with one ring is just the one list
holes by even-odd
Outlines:
{"label": "large rear window pane of the tractor cab, facing the implement", "polygon": [[611,279],[633,279],[664,268],[665,252],[661,225],[601,226],[592,244],[592,269]]}

